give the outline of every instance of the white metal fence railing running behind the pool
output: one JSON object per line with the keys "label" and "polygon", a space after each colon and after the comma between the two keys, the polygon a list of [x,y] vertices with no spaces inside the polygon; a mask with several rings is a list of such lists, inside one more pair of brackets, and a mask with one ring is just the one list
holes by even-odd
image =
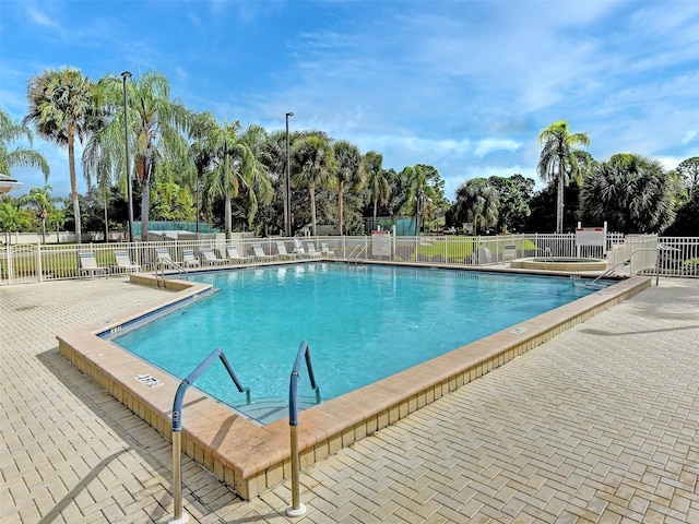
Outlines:
{"label": "white metal fence railing running behind the pool", "polygon": [[[110,242],[81,245],[15,243],[0,245],[0,285],[51,279],[79,278],[79,253],[88,251],[107,275],[132,271],[155,271],[156,251],[167,249],[173,261],[182,261],[185,250],[200,253],[213,250],[226,259],[226,246],[235,246],[241,255],[251,255],[259,245],[265,254],[279,254],[277,242],[284,242],[292,253],[301,241],[306,251],[311,243],[315,251],[336,259],[392,260],[454,265],[501,264],[512,259],[535,257],[599,258],[614,265],[630,257],[631,273],[655,271],[655,258],[662,276],[699,277],[699,238],[657,237],[654,235],[624,236],[607,234],[605,246],[576,246],[574,234],[525,234],[500,236],[418,236],[381,238],[372,236],[335,236],[303,238],[253,238],[236,236],[226,240],[215,236],[202,240],[163,240],[151,242]],[[640,249],[643,248],[643,249]],[[653,252],[656,248],[656,252]],[[133,267],[117,262],[115,252],[126,251]],[[254,263],[254,259],[251,259]],[[201,260],[202,265],[206,261]],[[232,261],[234,263],[234,261]],[[236,262],[237,263],[237,262]]]}

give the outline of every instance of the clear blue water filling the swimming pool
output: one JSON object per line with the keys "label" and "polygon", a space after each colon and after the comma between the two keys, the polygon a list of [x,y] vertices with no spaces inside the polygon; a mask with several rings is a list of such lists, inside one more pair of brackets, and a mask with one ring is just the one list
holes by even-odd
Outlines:
{"label": "clear blue water filling the swimming pool", "polygon": [[[222,348],[253,403],[284,405],[301,341],[328,400],[595,290],[562,277],[320,262],[190,279],[220,291],[114,342],[180,379]],[[196,383],[246,412],[232,385],[218,364]],[[311,394],[305,370],[299,394]]]}

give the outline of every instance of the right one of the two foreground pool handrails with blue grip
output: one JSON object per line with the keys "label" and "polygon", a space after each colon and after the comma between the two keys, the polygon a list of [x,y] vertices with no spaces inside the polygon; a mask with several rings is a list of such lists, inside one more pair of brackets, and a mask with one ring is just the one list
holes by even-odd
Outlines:
{"label": "right one of the two foreground pool handrails with blue grip", "polygon": [[316,402],[320,403],[320,388],[316,383],[313,374],[313,366],[310,359],[310,349],[306,341],[301,342],[296,353],[296,360],[292,369],[292,377],[288,384],[288,426],[292,441],[292,507],[286,509],[288,516],[300,516],[306,513],[306,507],[299,500],[299,457],[298,457],[298,403],[297,389],[299,380],[299,371],[301,365],[306,360],[306,368],[310,378],[310,386],[316,390]]}

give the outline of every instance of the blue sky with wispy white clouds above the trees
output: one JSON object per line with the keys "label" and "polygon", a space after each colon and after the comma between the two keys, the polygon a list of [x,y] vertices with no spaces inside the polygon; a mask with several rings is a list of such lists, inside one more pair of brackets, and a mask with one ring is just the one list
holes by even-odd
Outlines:
{"label": "blue sky with wispy white clouds above the trees", "polygon": [[[292,130],[386,168],[435,166],[449,199],[474,177],[537,179],[538,133],[559,119],[599,160],[699,156],[695,0],[0,0],[0,107],[23,118],[28,80],[63,66],[95,81],[157,70],[220,121],[272,131],[293,111]],[[68,195],[67,152],[34,146]],[[12,194],[44,186],[12,174]]]}

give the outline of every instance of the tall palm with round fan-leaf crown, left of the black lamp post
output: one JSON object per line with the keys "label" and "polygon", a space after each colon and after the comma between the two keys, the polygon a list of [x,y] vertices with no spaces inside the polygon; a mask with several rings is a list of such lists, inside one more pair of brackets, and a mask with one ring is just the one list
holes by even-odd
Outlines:
{"label": "tall palm with round fan-leaf crown, left of the black lamp post", "polygon": [[84,140],[94,112],[93,83],[78,69],[46,70],[29,81],[28,110],[24,122],[33,122],[40,136],[68,147],[70,191],[75,215],[75,237],[81,242],[80,201],[75,178],[75,138]]}

